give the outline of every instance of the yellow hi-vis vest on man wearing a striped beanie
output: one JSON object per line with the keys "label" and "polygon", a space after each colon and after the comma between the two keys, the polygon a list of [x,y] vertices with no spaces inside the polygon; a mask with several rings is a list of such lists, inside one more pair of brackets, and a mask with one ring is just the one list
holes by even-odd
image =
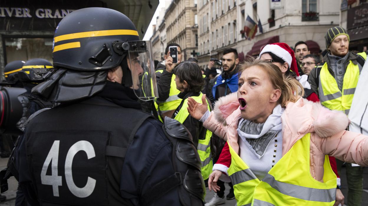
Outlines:
{"label": "yellow hi-vis vest on man wearing a striped beanie", "polygon": [[[359,53],[358,55],[364,59],[367,58],[365,52]],[[343,78],[343,88],[340,91],[335,78],[328,71],[327,63],[324,63],[318,77],[318,93],[321,104],[331,110],[343,111],[348,115],[359,76],[360,70],[358,64],[353,64],[350,60]]]}

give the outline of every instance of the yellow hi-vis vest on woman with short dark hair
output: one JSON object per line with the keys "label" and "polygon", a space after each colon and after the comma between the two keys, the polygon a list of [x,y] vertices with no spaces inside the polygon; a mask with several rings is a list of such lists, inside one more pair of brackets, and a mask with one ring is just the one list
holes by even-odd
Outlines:
{"label": "yellow hi-vis vest on woman with short dark hair", "polygon": [[[202,96],[203,94],[201,92],[198,97],[192,96],[191,98],[193,98],[197,102],[202,102]],[[210,111],[208,101],[207,101],[207,105],[208,105],[208,110]],[[187,107],[188,107],[188,98],[184,100],[183,106],[181,107],[178,114],[174,118],[182,124],[185,121],[185,119],[187,119],[187,117],[189,116]],[[197,151],[199,154],[199,158],[201,159],[201,164],[202,164],[201,172],[202,172],[203,179],[208,179],[208,176],[211,174],[212,167],[213,167],[211,147],[210,147],[211,137],[212,137],[212,132],[210,130],[207,130],[205,139],[198,140]]]}

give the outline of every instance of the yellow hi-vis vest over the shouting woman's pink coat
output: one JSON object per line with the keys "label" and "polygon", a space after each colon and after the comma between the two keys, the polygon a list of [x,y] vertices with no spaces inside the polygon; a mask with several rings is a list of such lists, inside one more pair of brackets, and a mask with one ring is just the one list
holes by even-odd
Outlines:
{"label": "yellow hi-vis vest over the shouting woman's pink coat", "polygon": [[229,144],[231,165],[227,172],[234,185],[237,205],[332,206],[336,196],[336,175],[326,155],[323,182],[312,177],[310,141],[311,135],[307,133],[271,168],[262,181],[259,181]]}

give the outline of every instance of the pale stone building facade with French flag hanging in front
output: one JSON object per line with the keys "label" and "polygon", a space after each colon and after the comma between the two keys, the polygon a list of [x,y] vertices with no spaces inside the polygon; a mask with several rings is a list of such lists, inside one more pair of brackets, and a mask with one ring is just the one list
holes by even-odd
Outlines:
{"label": "pale stone building facade with French flag hanging in front", "polygon": [[[202,67],[210,57],[220,59],[224,49],[233,47],[244,56],[259,54],[267,43],[312,40],[325,49],[324,35],[328,28],[340,23],[340,4],[336,0],[282,0],[277,9],[270,0],[198,0],[198,50]],[[247,16],[263,33],[247,39],[241,31]]]}

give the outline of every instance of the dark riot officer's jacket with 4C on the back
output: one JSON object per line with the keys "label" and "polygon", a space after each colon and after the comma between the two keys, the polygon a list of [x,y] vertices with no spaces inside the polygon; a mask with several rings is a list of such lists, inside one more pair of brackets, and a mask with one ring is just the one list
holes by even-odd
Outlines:
{"label": "dark riot officer's jacket with 4C on the back", "polygon": [[[107,82],[95,97],[35,116],[14,154],[28,202],[142,205],[138,198],[175,171],[162,123],[139,108],[132,90]],[[153,204],[179,199],[172,189]]]}

